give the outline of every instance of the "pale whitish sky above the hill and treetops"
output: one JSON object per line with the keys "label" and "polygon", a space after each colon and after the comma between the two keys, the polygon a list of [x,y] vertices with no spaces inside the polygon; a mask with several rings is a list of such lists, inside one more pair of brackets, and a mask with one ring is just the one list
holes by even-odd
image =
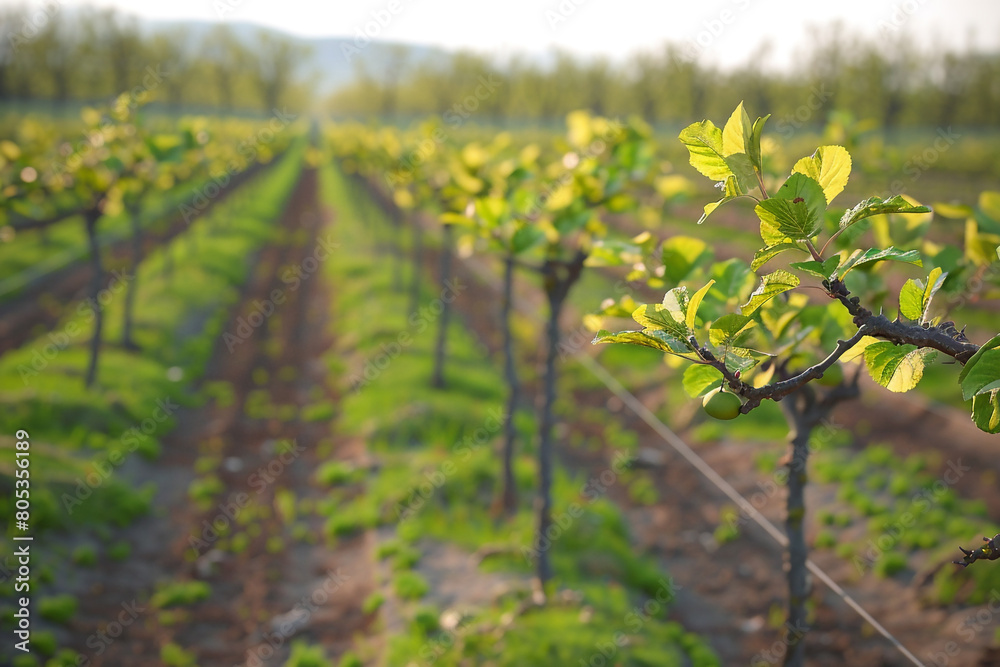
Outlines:
{"label": "pale whitish sky above the hill and treetops", "polygon": [[[921,46],[1000,49],[997,0],[34,0],[96,4],[151,19],[247,21],[308,37],[354,36],[497,54],[561,47],[622,58],[670,40],[707,61],[739,64],[761,42],[784,67],[808,27],[843,21],[868,36],[911,35]],[[0,0],[0,6],[24,4]],[[382,25],[384,24],[384,25]]]}

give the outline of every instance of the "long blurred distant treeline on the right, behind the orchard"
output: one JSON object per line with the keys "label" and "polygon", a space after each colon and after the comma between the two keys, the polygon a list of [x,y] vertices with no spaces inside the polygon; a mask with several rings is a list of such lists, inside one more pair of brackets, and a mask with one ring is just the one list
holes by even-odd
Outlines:
{"label": "long blurred distant treeline on the right, behind the orchard", "polygon": [[769,124],[779,132],[822,123],[831,109],[890,129],[1000,125],[1000,54],[921,51],[895,33],[862,40],[836,26],[817,30],[810,42],[811,51],[782,73],[761,66],[764,49],[749,53],[738,69],[720,71],[676,44],[624,64],[566,53],[548,64],[523,57],[498,64],[457,53],[412,65],[407,49],[397,47],[382,71],[359,68],[356,83],[328,100],[327,109],[382,117],[434,113],[449,122],[473,115],[554,119],[589,108],[686,123],[728,117],[745,100],[752,113],[773,114]]}

